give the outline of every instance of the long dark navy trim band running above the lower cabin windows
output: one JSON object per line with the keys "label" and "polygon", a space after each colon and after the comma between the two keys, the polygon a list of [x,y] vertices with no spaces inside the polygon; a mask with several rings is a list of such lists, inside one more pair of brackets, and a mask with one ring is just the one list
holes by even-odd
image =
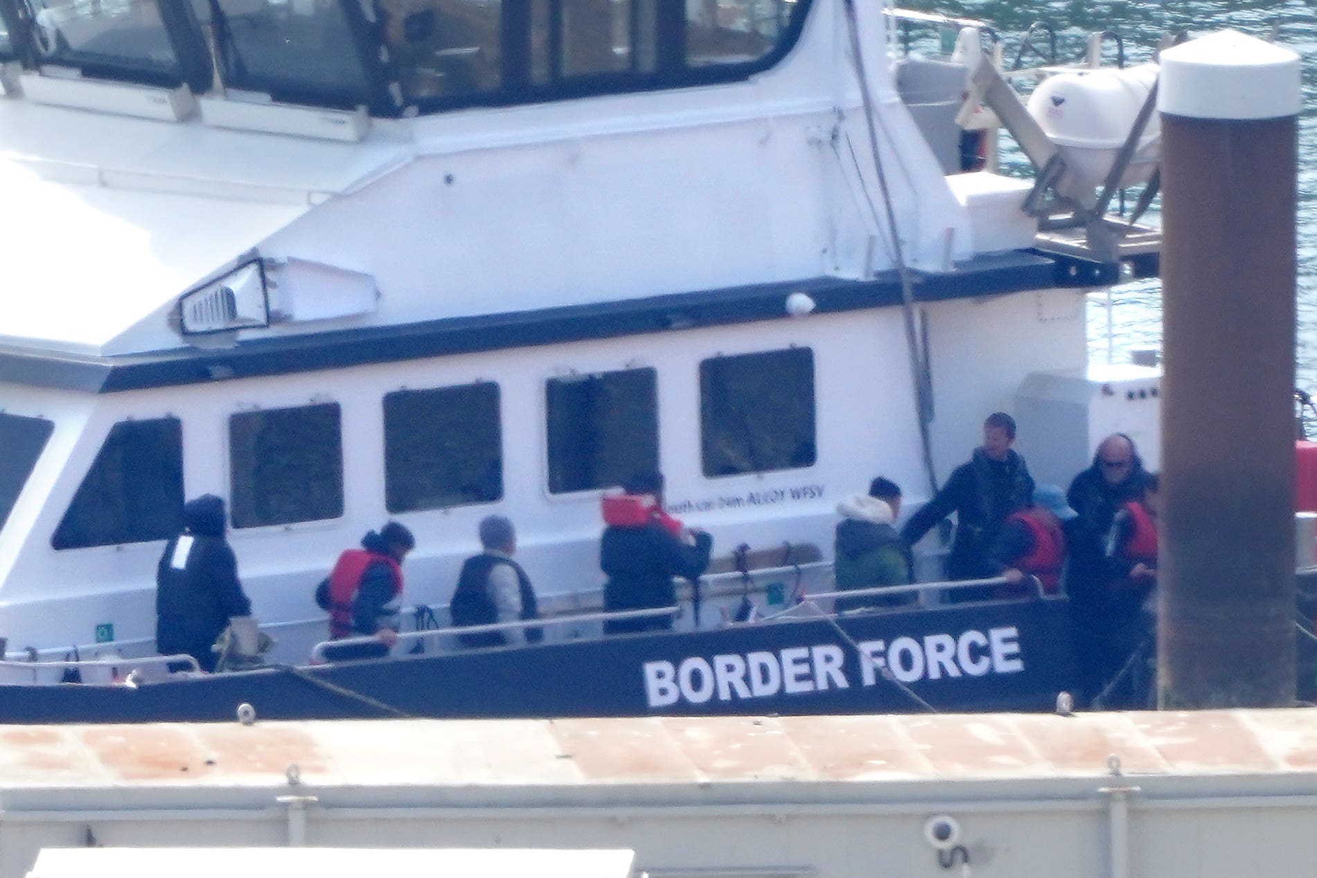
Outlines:
{"label": "long dark navy trim band running above the lower cabin windows", "polygon": [[[1069,266],[1052,257],[1010,252],[977,257],[946,274],[917,274],[914,291],[919,302],[938,302],[1054,286],[1087,286],[1065,282],[1068,274]],[[886,272],[872,281],[818,277],[624,302],[254,339],[228,349],[178,348],[153,355],[100,357],[0,347],[0,381],[116,393],[342,369],[371,363],[773,320],[785,316],[786,297],[797,291],[809,294],[820,314],[901,303],[896,273]]]}

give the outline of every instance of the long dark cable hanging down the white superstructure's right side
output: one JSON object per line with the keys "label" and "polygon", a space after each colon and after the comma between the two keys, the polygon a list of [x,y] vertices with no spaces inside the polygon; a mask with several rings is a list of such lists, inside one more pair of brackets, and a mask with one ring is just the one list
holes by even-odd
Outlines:
{"label": "long dark cable hanging down the white superstructure's right side", "polygon": [[[925,475],[928,477],[930,496],[938,493],[938,476],[932,467],[932,442],[928,431],[928,422],[932,419],[932,382],[928,374],[928,351],[919,344],[919,334],[915,331],[915,302],[914,286],[910,279],[910,269],[906,266],[905,254],[901,249],[901,236],[897,229],[896,210],[892,207],[892,191],[888,187],[888,175],[882,166],[882,156],[878,148],[877,107],[873,95],[869,92],[869,78],[864,66],[864,51],[860,45],[860,22],[855,11],[855,0],[844,0],[846,20],[851,37],[851,55],[855,63],[855,74],[860,82],[860,100],[864,104],[864,121],[869,132],[869,144],[873,150],[873,167],[878,177],[878,190],[882,195],[888,229],[892,235],[892,253],[897,268],[897,278],[901,282],[901,315],[905,320],[906,352],[910,359],[910,377],[914,385],[915,415],[919,421],[919,451],[923,456]],[[864,178],[860,178],[861,186]],[[877,229],[881,236],[881,227]],[[865,266],[868,270],[868,266]]]}

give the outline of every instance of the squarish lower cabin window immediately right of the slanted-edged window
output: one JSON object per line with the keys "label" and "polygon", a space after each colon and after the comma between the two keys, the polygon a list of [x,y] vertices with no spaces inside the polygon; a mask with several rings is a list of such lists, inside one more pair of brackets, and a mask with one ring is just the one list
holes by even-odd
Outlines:
{"label": "squarish lower cabin window immediately right of the slanted-edged window", "polygon": [[229,418],[233,526],[342,515],[338,403],[242,411]]}

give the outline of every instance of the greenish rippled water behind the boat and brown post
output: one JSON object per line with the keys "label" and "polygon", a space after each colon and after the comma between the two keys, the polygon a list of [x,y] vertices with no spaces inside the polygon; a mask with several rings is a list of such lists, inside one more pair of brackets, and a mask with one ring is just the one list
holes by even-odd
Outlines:
{"label": "greenish rippled water behind the boat and brown post", "polygon": [[[1015,58],[1025,30],[1035,21],[1047,21],[1058,37],[1058,57],[1075,61],[1084,53],[1088,34],[1114,30],[1125,44],[1126,63],[1151,59],[1152,49],[1166,33],[1180,30],[1193,34],[1233,28],[1243,33],[1271,38],[1299,53],[1303,59],[1304,108],[1299,132],[1299,344],[1296,351],[1297,385],[1317,390],[1317,69],[1310,58],[1317,53],[1317,3],[1189,1],[1189,3],[1092,3],[1054,0],[1051,3],[1008,3],[981,0],[969,3],[911,3],[928,12],[980,18],[1001,34],[1006,45],[1008,65]],[[1046,41],[1040,41],[1046,45]],[[1106,55],[1114,63],[1114,42],[1108,41]],[[1026,54],[1025,66],[1035,66],[1038,55]],[[1004,144],[1005,145],[1005,144]],[[1004,150],[1008,173],[1026,173],[1022,157]],[[1154,219],[1155,210],[1150,212]],[[1159,221],[1159,220],[1158,220]],[[1245,294],[1245,291],[1242,291]],[[1162,347],[1162,291],[1156,282],[1118,287],[1112,297],[1114,328],[1114,361],[1127,361],[1135,348]],[[1089,306],[1089,340],[1094,357],[1108,356],[1108,312],[1094,297]]]}

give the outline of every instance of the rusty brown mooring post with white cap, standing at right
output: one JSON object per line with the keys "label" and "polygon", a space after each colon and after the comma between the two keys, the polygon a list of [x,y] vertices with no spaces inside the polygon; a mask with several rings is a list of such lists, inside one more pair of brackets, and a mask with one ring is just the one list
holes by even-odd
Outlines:
{"label": "rusty brown mooring post with white cap, standing at right", "polygon": [[1226,30],[1162,53],[1163,709],[1295,699],[1299,55]]}

